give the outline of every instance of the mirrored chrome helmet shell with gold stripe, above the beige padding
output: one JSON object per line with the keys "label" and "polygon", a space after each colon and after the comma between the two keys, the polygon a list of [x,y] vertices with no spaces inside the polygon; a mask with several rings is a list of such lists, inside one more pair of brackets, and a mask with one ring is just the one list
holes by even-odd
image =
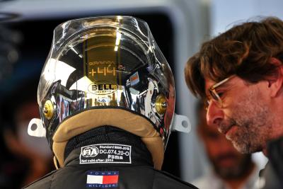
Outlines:
{"label": "mirrored chrome helmet shell with gold stripe, above the beige padding", "polygon": [[52,119],[45,120],[50,130],[84,110],[122,108],[149,120],[166,144],[175,86],[171,69],[144,21],[86,18],[54,30],[37,92],[40,108],[47,100],[56,110]]}

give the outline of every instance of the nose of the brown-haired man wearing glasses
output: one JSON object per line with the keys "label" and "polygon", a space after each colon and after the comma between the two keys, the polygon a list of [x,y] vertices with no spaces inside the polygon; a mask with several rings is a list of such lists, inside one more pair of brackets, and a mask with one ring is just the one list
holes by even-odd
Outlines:
{"label": "nose of the brown-haired man wearing glasses", "polygon": [[207,125],[218,127],[224,119],[224,112],[214,101],[210,101],[207,108]]}

